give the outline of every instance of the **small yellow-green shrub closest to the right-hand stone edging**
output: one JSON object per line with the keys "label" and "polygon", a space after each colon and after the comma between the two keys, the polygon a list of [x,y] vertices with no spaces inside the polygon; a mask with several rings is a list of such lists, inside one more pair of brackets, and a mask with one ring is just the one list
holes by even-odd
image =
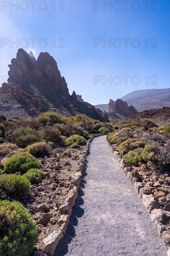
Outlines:
{"label": "small yellow-green shrub closest to the right-hand stone edging", "polygon": [[130,150],[127,154],[125,154],[123,156],[123,158],[127,163],[131,163],[134,166],[141,165],[142,164],[142,156],[141,156],[142,150],[143,150],[143,148],[137,148],[134,150]]}

